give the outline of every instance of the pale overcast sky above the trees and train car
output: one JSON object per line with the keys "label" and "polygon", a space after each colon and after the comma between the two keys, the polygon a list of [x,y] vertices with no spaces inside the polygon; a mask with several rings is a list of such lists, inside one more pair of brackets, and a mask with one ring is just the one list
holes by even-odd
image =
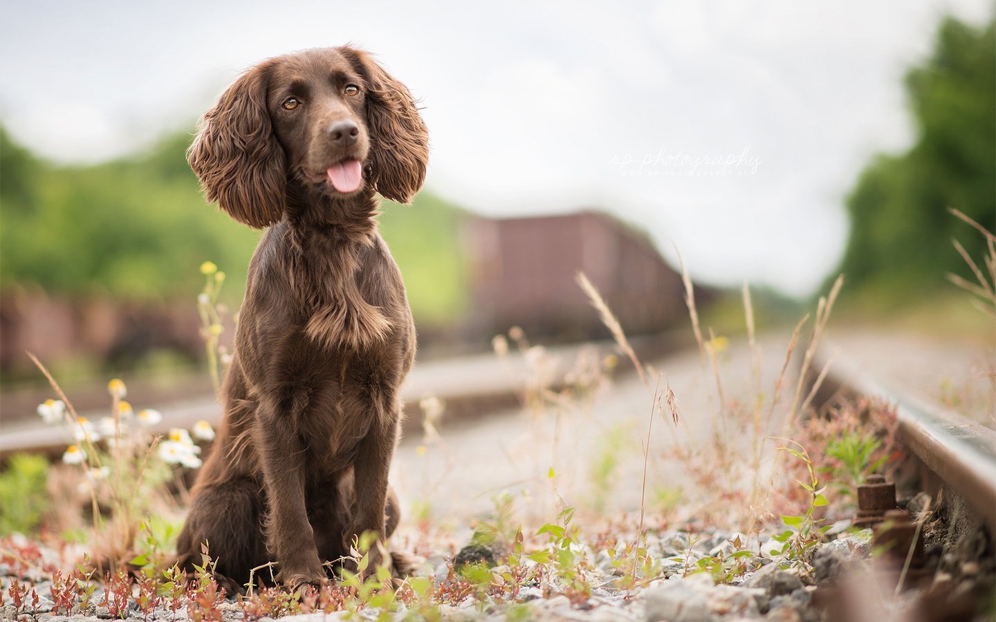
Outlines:
{"label": "pale overcast sky above the trees and train car", "polygon": [[[347,42],[425,106],[427,187],[488,215],[595,207],[693,276],[812,293],[842,197],[912,139],[901,88],[986,0],[403,3],[0,0],[0,121],[60,162],[190,129],[238,73]],[[2,182],[2,181],[0,181]]]}

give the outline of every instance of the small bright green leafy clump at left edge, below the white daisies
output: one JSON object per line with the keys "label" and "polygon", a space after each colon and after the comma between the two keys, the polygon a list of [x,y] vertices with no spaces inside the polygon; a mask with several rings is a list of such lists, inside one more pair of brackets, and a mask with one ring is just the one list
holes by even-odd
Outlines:
{"label": "small bright green leafy clump at left edge, below the white daisies", "polygon": [[0,535],[33,533],[45,518],[49,462],[44,456],[14,454],[0,473]]}

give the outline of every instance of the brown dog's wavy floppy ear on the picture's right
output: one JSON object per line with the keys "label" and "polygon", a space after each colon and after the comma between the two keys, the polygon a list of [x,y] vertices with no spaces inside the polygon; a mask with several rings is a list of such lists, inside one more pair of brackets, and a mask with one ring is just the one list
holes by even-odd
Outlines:
{"label": "brown dog's wavy floppy ear on the picture's right", "polygon": [[373,186],[384,198],[407,203],[425,181],[429,133],[407,87],[362,50],[342,48],[367,81]]}

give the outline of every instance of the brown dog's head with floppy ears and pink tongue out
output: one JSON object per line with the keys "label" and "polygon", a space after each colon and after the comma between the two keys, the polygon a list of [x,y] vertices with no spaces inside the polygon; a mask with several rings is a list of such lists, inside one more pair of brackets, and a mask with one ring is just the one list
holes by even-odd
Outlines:
{"label": "brown dog's head with floppy ears and pink tongue out", "polygon": [[428,132],[404,85],[349,47],[270,59],[208,110],[187,161],[209,201],[251,227],[283,217],[288,183],[407,203],[425,179]]}

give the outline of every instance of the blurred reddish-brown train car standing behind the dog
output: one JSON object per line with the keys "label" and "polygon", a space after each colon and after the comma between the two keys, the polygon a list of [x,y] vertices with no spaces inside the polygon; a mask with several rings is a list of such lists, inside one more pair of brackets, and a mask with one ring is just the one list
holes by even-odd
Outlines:
{"label": "blurred reddish-brown train car standing behind the dog", "polygon": [[576,276],[584,272],[627,334],[686,317],[681,277],[646,235],[607,214],[470,218],[465,225],[473,332],[519,325],[558,340],[608,336]]}

